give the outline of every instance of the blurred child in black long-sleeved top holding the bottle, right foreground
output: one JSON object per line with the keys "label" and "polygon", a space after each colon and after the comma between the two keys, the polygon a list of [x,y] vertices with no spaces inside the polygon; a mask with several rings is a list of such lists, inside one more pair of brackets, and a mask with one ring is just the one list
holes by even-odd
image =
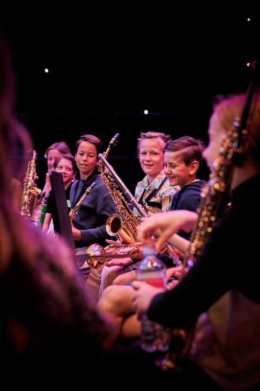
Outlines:
{"label": "blurred child in black long-sleeved top holding the bottle, right foreground", "polygon": [[[213,185],[225,178],[221,174],[228,170],[228,156],[234,148],[233,171],[226,183],[231,207],[217,218],[204,243],[195,244],[200,254],[171,289],[162,292],[144,282],[133,282],[133,308],[139,319],[147,312],[149,319],[173,330],[187,330],[191,336],[184,370],[178,372],[168,366],[169,370],[165,371],[165,379],[171,380],[175,390],[196,383],[208,390],[260,390],[259,232],[253,228],[255,222],[260,221],[260,208],[256,191],[250,192],[253,213],[245,196],[248,189],[258,189],[260,185],[259,92],[254,91],[252,102],[249,101],[244,127],[235,126],[236,117],[244,118],[249,95],[216,97],[209,121],[209,145],[203,152],[213,174],[209,183],[213,181]],[[238,152],[235,133],[244,129],[243,142],[238,143],[242,148]],[[225,149],[226,156],[223,155]],[[225,156],[224,164],[219,160],[218,165],[221,154]],[[211,199],[220,201],[221,195],[216,197],[217,194],[214,198],[213,192]],[[213,213],[206,215],[208,218],[214,216],[216,206],[213,202],[212,205]],[[206,206],[205,202],[205,209],[201,207],[201,210],[206,211]],[[157,214],[142,221],[139,239],[146,243],[159,230],[160,238],[156,242],[159,250],[162,243],[171,242],[171,236],[178,230],[189,231],[196,227],[197,220],[194,212],[184,210]],[[198,224],[200,235],[205,227]],[[223,241],[226,241],[224,251]]]}

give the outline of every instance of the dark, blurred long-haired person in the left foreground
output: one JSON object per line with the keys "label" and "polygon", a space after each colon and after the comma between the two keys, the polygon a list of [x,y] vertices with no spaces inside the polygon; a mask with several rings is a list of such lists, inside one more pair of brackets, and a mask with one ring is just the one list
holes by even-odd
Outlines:
{"label": "dark, blurred long-haired person in the left foreground", "polygon": [[1,381],[12,386],[64,386],[79,375],[82,351],[87,370],[99,374],[100,342],[109,332],[96,313],[74,253],[20,216],[10,178],[22,181],[32,147],[14,115],[15,76],[0,34],[0,347]]}

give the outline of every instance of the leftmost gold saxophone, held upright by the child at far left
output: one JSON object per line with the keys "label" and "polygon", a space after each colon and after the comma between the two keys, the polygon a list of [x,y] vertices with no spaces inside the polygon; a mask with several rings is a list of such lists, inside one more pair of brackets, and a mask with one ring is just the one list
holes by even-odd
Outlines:
{"label": "leftmost gold saxophone, held upright by the child at far left", "polygon": [[23,186],[20,214],[27,219],[32,219],[37,197],[41,193],[41,190],[36,186],[36,180],[38,176],[36,174],[36,159],[37,153],[35,150],[29,150],[28,153],[32,152],[32,157],[29,160],[26,178],[27,183]]}

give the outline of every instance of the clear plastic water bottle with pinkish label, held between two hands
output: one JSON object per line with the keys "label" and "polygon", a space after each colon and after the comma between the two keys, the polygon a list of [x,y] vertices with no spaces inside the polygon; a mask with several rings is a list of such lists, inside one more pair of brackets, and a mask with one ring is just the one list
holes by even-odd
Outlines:
{"label": "clear plastic water bottle with pinkish label, held between two hands", "polygon": [[[153,242],[143,246],[144,259],[137,270],[137,280],[166,289],[166,265],[157,256]],[[141,318],[141,348],[148,352],[166,351],[170,345],[171,330],[151,321],[146,314]]]}

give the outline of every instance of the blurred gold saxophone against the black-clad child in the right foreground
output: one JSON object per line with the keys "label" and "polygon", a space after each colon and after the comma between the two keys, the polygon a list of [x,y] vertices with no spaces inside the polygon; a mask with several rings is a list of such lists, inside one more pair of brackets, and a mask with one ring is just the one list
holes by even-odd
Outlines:
{"label": "blurred gold saxophone against the black-clad child in the right foreground", "polygon": [[[214,224],[228,209],[230,183],[234,171],[234,163],[240,165],[244,158],[244,142],[247,134],[246,121],[254,93],[254,80],[250,81],[247,89],[246,102],[241,117],[236,117],[227,132],[227,137],[220,146],[220,156],[214,161],[215,174],[209,175],[209,180],[201,189],[201,204],[198,222],[191,234],[191,246],[187,252],[183,265],[190,266],[200,255],[212,232]],[[189,329],[174,329],[172,343],[163,359],[156,360],[156,364],[163,370],[185,369],[189,361],[189,352],[193,341],[195,326]]]}

